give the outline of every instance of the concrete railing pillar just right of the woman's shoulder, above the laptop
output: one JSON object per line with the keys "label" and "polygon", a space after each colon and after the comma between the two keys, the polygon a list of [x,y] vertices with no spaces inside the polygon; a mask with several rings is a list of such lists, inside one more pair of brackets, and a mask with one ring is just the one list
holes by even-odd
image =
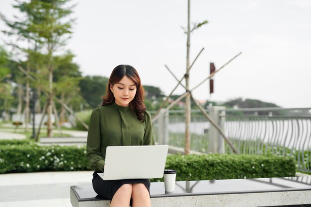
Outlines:
{"label": "concrete railing pillar just right of the woman's shoulder, above the laptop", "polygon": [[168,144],[168,109],[160,109],[158,124],[158,144]]}

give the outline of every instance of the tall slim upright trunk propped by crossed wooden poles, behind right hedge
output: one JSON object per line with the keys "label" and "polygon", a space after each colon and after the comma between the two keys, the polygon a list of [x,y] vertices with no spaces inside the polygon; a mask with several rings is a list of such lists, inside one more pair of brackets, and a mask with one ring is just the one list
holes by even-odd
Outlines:
{"label": "tall slim upright trunk propped by crossed wooden poles, behind right hedge", "polygon": [[[186,63],[186,92],[189,91],[189,70],[190,70],[190,0],[188,0],[188,26],[187,26],[187,63]],[[185,154],[190,152],[190,121],[191,121],[191,100],[190,94],[186,97],[185,106],[185,118],[186,118],[186,130],[185,130]]]}

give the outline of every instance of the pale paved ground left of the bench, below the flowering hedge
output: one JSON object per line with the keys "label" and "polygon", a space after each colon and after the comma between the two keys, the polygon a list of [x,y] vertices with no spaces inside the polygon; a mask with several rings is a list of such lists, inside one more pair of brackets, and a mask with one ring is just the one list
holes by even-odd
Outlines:
{"label": "pale paved ground left of the bench, below the flowering hedge", "polygon": [[70,186],[91,183],[92,173],[0,174],[0,207],[72,207]]}

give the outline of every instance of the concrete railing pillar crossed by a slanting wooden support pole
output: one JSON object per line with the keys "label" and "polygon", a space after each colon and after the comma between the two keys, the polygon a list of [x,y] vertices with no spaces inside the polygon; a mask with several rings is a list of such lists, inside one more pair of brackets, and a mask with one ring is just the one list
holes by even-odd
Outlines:
{"label": "concrete railing pillar crossed by a slanting wooden support pole", "polygon": [[[225,121],[226,121],[226,107],[224,106],[214,106],[209,109],[209,115],[211,119],[217,123],[220,128],[225,131]],[[212,153],[225,153],[225,141],[221,136],[219,131],[210,124],[209,129],[209,152]]]}

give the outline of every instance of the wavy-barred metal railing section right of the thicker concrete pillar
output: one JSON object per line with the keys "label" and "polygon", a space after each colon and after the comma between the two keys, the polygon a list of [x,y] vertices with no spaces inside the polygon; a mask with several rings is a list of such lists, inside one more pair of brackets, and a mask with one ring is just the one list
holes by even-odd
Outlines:
{"label": "wavy-barred metal railing section right of the thicker concrete pillar", "polygon": [[[311,172],[311,108],[227,109],[225,134],[241,154],[291,156]],[[233,153],[226,144],[226,153]]]}

